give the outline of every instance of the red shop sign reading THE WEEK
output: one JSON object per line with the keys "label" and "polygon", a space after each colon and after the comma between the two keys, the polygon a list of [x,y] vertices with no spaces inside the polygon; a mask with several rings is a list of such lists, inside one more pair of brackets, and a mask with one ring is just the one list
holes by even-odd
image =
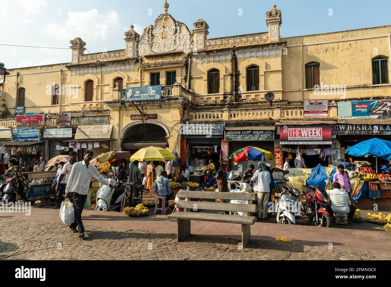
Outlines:
{"label": "red shop sign reading THE WEEK", "polygon": [[280,144],[331,144],[331,130],[330,126],[283,126]]}

